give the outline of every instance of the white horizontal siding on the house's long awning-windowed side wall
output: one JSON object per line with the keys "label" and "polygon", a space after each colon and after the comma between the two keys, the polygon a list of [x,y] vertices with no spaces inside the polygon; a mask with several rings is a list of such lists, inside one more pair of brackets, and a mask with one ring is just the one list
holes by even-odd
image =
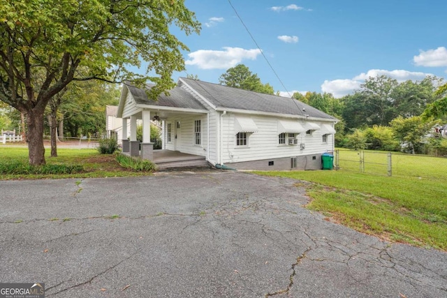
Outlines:
{"label": "white horizontal siding on the house's long awning-windowed side wall", "polygon": [[[237,147],[235,143],[235,116],[251,117],[258,126],[257,133],[249,133],[248,146]],[[298,145],[278,143],[278,126],[276,117],[247,116],[226,114],[223,116],[223,163],[237,163],[242,161],[256,161],[268,158],[283,158],[288,156],[305,156],[332,151],[332,137],[328,135],[328,142],[323,144],[322,134],[314,131],[312,135],[300,133]],[[316,124],[320,124],[314,121]],[[300,122],[302,125],[305,121]],[[300,149],[300,144],[305,149]]]}

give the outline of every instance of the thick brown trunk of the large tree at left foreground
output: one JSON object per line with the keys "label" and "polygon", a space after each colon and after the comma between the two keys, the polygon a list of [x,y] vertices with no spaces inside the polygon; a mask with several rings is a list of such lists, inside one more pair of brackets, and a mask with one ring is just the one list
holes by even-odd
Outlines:
{"label": "thick brown trunk of the large tree at left foreground", "polygon": [[28,158],[30,165],[45,165],[45,147],[43,147],[43,109],[27,112]]}

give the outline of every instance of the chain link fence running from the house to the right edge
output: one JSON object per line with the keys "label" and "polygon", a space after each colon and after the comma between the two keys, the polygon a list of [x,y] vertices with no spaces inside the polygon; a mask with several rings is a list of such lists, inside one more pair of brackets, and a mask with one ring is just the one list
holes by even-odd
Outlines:
{"label": "chain link fence running from the house to the right edge", "polygon": [[399,152],[337,149],[335,170],[395,177],[447,179],[447,158]]}

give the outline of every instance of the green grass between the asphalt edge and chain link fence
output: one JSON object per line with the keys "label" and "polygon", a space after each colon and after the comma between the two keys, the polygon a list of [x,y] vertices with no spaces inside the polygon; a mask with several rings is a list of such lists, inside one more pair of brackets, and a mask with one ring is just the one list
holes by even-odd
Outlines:
{"label": "green grass between the asphalt edge and chain link fence", "polygon": [[447,251],[447,188],[439,181],[345,170],[256,173],[297,179],[311,198],[307,208],[332,221],[383,239]]}

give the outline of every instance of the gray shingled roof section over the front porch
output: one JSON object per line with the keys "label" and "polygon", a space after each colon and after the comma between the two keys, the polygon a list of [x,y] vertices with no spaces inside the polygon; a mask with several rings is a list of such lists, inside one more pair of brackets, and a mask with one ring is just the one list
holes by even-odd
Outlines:
{"label": "gray shingled roof section over the front porch", "polygon": [[[162,107],[181,107],[184,109],[206,110],[206,108],[194,96],[182,87],[175,87],[169,91],[169,95],[164,93],[159,95],[158,100],[149,100],[146,91],[126,84],[133,99],[140,105],[159,105]],[[150,88],[150,86],[148,86]]]}

